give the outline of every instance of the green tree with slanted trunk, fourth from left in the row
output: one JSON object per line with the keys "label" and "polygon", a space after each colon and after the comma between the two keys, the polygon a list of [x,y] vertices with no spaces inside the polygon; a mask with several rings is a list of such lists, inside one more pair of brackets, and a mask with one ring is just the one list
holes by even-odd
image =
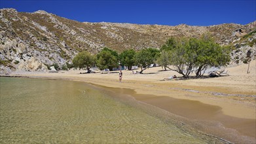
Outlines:
{"label": "green tree with slanted trunk, fourth from left in the row", "polygon": [[159,50],[157,50],[156,48],[147,48],[139,50],[139,52],[137,52],[135,55],[136,63],[137,65],[139,65],[139,67],[141,67],[141,71],[139,71],[139,73],[142,73],[152,63],[155,63],[158,54]]}

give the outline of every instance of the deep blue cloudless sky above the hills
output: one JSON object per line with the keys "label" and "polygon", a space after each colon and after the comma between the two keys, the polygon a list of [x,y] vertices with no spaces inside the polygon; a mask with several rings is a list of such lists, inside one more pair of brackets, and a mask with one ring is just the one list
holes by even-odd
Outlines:
{"label": "deep blue cloudless sky above the hills", "polygon": [[256,20],[256,0],[0,0],[0,7],[45,10],[79,22],[211,26]]}

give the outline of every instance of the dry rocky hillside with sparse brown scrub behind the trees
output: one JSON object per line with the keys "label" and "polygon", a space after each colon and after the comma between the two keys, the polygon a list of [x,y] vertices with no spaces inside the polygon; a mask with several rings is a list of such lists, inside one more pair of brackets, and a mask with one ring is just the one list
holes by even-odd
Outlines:
{"label": "dry rocky hillside with sparse brown scrub behind the trees", "polygon": [[233,61],[240,63],[247,50],[255,50],[255,29],[256,21],[207,27],[90,23],[43,10],[28,13],[0,9],[0,69],[1,73],[46,71],[46,65],[57,63],[62,67],[71,63],[82,50],[97,54],[103,47],[118,52],[128,48],[160,48],[172,36],[200,37],[202,33],[211,33],[217,43],[234,47]]}

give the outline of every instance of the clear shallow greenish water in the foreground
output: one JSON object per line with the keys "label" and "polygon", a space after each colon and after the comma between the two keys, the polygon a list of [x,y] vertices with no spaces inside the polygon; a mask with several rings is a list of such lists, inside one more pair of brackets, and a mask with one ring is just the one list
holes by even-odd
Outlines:
{"label": "clear shallow greenish water in the foreground", "polygon": [[208,143],[82,82],[0,78],[0,143]]}

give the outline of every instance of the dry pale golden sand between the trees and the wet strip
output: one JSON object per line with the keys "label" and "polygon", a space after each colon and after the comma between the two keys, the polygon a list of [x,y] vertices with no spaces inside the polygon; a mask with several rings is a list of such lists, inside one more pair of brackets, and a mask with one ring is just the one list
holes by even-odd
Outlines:
{"label": "dry pale golden sand between the trees and the wet strip", "polygon": [[[164,78],[177,74],[175,71],[162,71],[161,67],[146,69],[144,74],[132,74],[122,71],[122,83],[119,82],[118,71],[111,73],[80,74],[82,70],[60,71],[59,73],[14,73],[12,75],[26,77],[45,77],[52,79],[69,79],[84,81],[112,88],[130,88],[137,94],[153,94],[178,99],[191,99],[222,108],[225,115],[239,118],[255,118],[256,78],[255,61],[247,65],[226,68],[228,77],[209,79],[189,79],[162,81]],[[254,97],[253,97],[254,96]]]}

